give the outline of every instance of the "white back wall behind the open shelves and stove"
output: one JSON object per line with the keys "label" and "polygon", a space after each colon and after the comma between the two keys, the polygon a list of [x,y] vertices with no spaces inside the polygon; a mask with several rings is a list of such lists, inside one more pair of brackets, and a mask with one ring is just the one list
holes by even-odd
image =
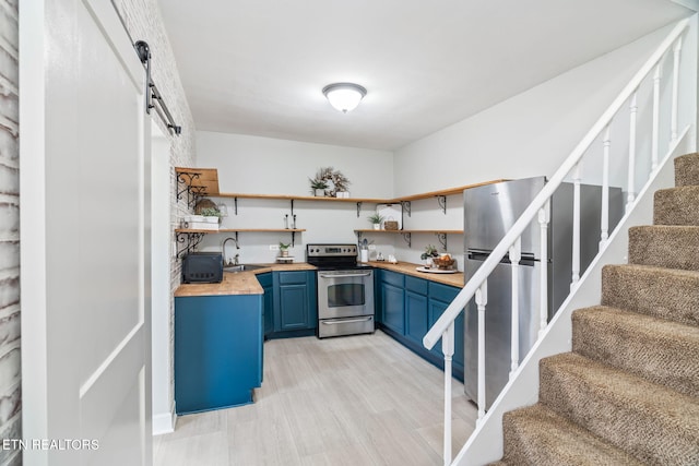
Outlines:
{"label": "white back wall behind the open shelves and stove", "polygon": [[[310,195],[308,178],[320,167],[333,167],[350,179],[353,198],[393,194],[393,154],[386,151],[199,131],[197,152],[197,166],[218,170],[221,192]],[[223,228],[284,228],[285,215],[289,215],[289,227],[292,224],[289,201],[238,199],[238,215],[233,199],[215,202],[228,207]],[[296,201],[296,227],[307,231],[296,235],[291,254],[305,260],[308,242],[356,242],[354,229],[370,228],[366,217],[375,210],[375,204],[364,203],[357,217],[355,203]],[[218,250],[226,237],[208,235],[199,250]],[[270,251],[270,244],[292,239],[284,232],[241,232],[238,238],[240,250],[235,252],[242,263],[274,262],[277,253]],[[235,253],[233,246],[227,251]]]}

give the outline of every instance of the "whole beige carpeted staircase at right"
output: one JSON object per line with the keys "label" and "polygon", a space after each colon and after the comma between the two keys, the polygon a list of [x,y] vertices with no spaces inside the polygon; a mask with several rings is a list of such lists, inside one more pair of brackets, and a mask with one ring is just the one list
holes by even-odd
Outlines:
{"label": "whole beige carpeted staircase at right", "polygon": [[573,312],[573,351],[541,360],[538,403],[505,415],[497,465],[699,465],[699,154],[675,182]]}

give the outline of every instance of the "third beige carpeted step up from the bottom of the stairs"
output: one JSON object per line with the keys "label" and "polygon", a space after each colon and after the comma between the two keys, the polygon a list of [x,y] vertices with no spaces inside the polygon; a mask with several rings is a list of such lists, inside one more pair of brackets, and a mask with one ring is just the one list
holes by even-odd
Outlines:
{"label": "third beige carpeted step up from the bottom of the stairs", "polygon": [[607,306],[572,321],[573,351],[699,397],[699,327]]}

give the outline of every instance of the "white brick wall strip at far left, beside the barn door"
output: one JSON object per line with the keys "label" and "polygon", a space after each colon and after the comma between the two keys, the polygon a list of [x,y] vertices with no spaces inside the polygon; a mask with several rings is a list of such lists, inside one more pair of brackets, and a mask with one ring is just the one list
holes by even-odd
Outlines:
{"label": "white brick wall strip at far left, beside the barn door", "polygon": [[[17,1],[0,0],[0,439],[22,433]],[[0,451],[0,465],[20,464]]]}

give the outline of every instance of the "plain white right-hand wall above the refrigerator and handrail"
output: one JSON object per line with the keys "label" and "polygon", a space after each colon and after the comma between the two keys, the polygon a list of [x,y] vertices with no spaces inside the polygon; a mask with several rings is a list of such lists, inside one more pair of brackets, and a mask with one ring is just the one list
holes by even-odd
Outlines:
{"label": "plain white right-hand wall above the refrigerator and handrail", "polygon": [[396,151],[395,194],[552,175],[667,32],[650,34]]}

